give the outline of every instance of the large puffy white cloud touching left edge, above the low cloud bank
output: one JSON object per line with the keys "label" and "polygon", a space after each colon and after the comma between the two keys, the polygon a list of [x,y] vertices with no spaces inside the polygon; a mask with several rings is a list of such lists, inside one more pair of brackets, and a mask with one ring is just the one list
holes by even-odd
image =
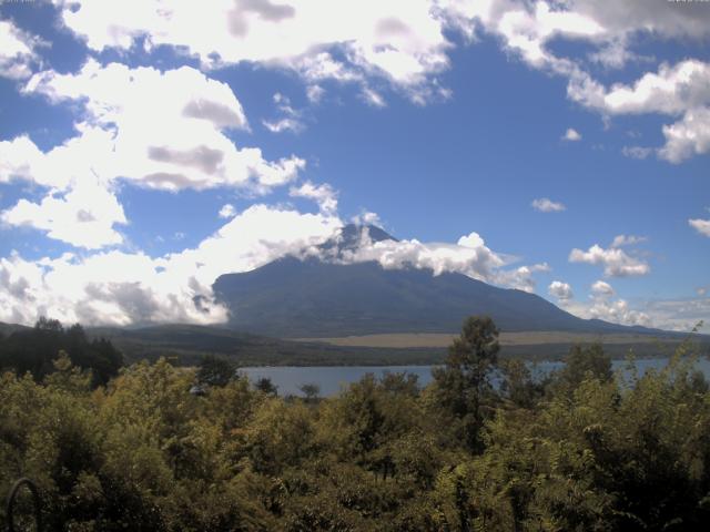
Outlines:
{"label": "large puffy white cloud touching left edge, above the low cloud bank", "polygon": [[266,161],[257,147],[235,146],[225,131],[248,131],[241,103],[227,84],[192,68],[161,72],[89,60],[73,74],[38,73],[24,91],[75,102],[81,121],[77,136],[45,152],[28,136],[0,142],[0,182],[48,188],[39,203],[21,200],[2,219],[75,246],[122,241],[114,227],[126,223],[113,192],[119,180],[166,191],[231,186],[263,194],[305,167],[296,156]]}

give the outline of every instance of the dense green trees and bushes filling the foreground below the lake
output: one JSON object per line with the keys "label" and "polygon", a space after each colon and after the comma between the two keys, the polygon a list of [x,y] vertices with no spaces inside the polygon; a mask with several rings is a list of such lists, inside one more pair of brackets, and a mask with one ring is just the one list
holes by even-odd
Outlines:
{"label": "dense green trees and bushes filling the foreground below the lake", "polygon": [[690,354],[623,379],[579,349],[536,382],[496,337],[471,318],[427,388],[366,376],[324,399],[240,377],[191,393],[196,371],[166,360],[98,389],[65,355],[41,382],[6,372],[0,494],[34,479],[50,530],[707,530],[710,392]]}

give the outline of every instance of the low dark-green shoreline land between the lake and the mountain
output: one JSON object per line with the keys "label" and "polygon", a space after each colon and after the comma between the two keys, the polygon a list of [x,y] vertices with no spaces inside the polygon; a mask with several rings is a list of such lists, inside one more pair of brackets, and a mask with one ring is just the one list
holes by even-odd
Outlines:
{"label": "low dark-green shoreline land between the lake and the mountain", "polygon": [[[142,328],[88,328],[91,337],[111,340],[128,364],[159,357],[174,359],[183,366],[196,365],[207,354],[224,356],[239,366],[403,366],[440,364],[446,356],[448,339],[436,344],[414,342],[402,335],[397,341],[377,337],[351,339],[281,340],[265,336],[239,332],[223,327],[197,325],[156,325]],[[399,335],[395,335],[399,336]],[[445,335],[443,335],[445,336]],[[392,338],[389,338],[392,340]],[[503,357],[524,357],[530,360],[562,359],[571,346],[602,340],[605,351],[613,358],[623,358],[633,349],[641,358],[667,357],[681,338],[662,335],[618,334],[596,335],[579,332],[504,332]],[[341,344],[341,345],[338,345]],[[700,352],[710,354],[710,338],[697,337]]]}

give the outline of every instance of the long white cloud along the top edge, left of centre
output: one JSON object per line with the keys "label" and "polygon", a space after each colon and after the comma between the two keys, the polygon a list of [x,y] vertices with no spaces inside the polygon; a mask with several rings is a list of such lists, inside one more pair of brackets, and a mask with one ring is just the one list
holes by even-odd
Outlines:
{"label": "long white cloud along the top edge, left of centre", "polygon": [[448,65],[445,22],[430,0],[217,0],[211,9],[159,0],[130,7],[57,1],[63,23],[93,50],[129,49],[145,38],[151,47],[183,47],[205,68],[250,61],[312,81],[377,76],[413,95]]}

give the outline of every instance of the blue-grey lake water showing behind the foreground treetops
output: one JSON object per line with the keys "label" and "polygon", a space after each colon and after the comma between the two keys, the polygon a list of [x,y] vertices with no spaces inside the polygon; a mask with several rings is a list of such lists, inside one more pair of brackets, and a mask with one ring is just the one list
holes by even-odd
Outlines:
{"label": "blue-grey lake water showing behind the foreground treetops", "polygon": [[[667,358],[652,358],[636,360],[636,367],[639,374],[643,374],[649,369],[662,369],[668,362]],[[623,369],[626,360],[613,360],[613,370]],[[561,361],[541,361],[530,365],[534,376],[541,376],[561,368],[565,362]],[[426,386],[432,381],[432,368],[434,366],[273,366],[273,367],[253,367],[241,368],[240,371],[245,374],[252,381],[262,377],[268,377],[274,385],[278,387],[278,395],[301,396],[298,388],[302,385],[313,383],[321,388],[322,396],[334,396],[344,385],[355,382],[367,374],[374,374],[375,377],[382,377],[385,372],[392,374],[407,371],[414,374],[419,379],[419,385]],[[701,358],[697,368],[700,369],[706,378],[710,379],[710,360]]]}

